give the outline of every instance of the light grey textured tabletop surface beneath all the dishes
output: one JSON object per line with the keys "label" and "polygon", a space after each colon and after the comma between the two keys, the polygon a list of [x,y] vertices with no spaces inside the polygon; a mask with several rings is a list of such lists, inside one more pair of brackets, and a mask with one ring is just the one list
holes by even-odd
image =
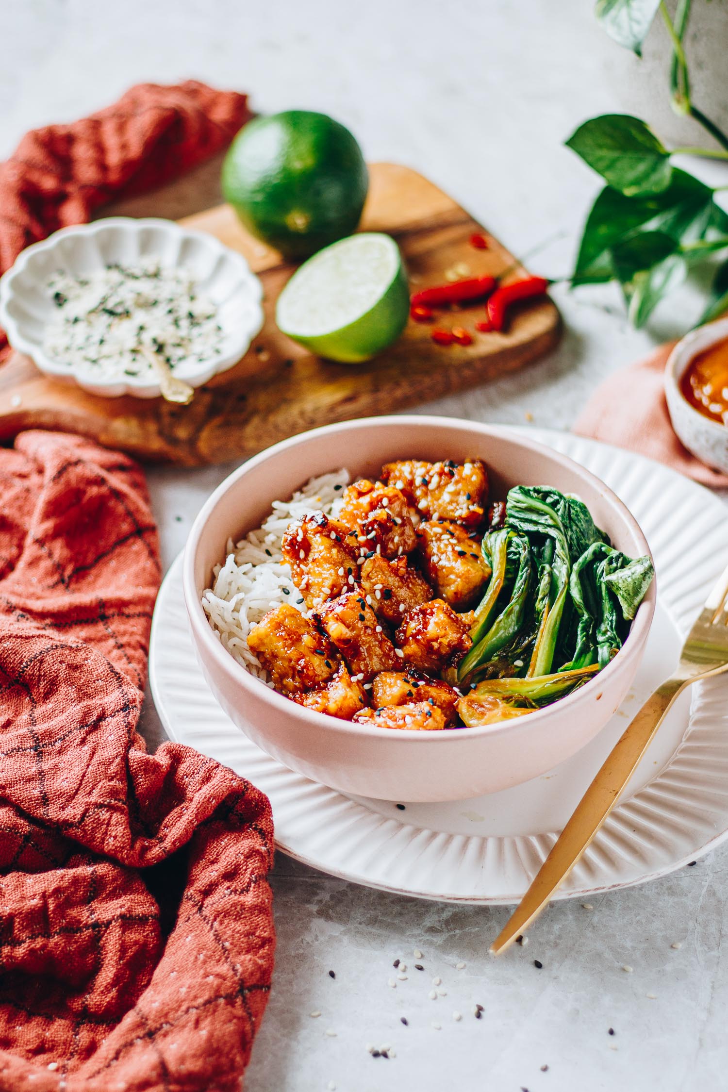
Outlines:
{"label": "light grey textured tabletop surface beneath all the dishes", "polygon": [[[0,155],[28,127],[83,115],[135,81],[195,75],[251,91],[261,110],[335,115],[369,158],[429,175],[516,253],[551,240],[532,262],[551,275],[569,269],[598,187],[562,142],[618,100],[610,82],[617,47],[584,0],[445,8],[434,0],[4,0],[2,27]],[[715,165],[700,169],[728,182]],[[516,424],[529,414],[568,428],[602,376],[684,329],[697,306],[689,287],[649,332],[635,333],[611,290],[557,288],[556,296],[566,323],[556,353],[427,411]],[[225,473],[151,472],[166,563]],[[160,738],[152,709],[144,731],[152,744]],[[318,1092],[330,1082],[341,1092],[726,1088],[728,848],[648,887],[600,897],[593,910],[559,904],[526,948],[499,961],[487,947],[504,910],[382,894],[284,857],[273,887],[277,964],[249,1092]],[[415,947],[422,972],[414,970]],[[408,971],[392,989],[395,958]],[[455,970],[458,961],[465,969]],[[446,996],[433,1001],[434,975]],[[317,1010],[322,1016],[311,1018]],[[396,1057],[371,1057],[369,1043],[391,1045]]]}

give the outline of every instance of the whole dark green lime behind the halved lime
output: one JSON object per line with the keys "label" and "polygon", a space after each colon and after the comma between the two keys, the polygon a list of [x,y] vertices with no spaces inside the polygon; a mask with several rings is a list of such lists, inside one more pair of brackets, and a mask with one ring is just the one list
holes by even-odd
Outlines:
{"label": "whole dark green lime behind the halved lime", "polygon": [[248,230],[295,260],[356,229],[369,175],[361,149],[338,121],[285,110],[240,130],[222,181]]}

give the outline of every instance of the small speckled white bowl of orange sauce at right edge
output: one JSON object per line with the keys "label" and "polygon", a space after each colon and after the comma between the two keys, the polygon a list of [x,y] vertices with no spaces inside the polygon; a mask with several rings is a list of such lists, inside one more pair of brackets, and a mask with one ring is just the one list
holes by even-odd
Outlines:
{"label": "small speckled white bowl of orange sauce at right edge", "polygon": [[728,318],[678,342],[665,369],[665,394],[685,448],[728,474]]}

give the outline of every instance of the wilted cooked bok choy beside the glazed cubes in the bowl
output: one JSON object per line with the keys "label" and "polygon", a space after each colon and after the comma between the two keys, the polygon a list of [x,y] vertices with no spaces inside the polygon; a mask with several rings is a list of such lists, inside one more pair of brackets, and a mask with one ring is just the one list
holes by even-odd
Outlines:
{"label": "wilted cooked bok choy beside the glazed cubes in the bowl", "polygon": [[583,501],[546,486],[510,490],[482,554],[492,573],[457,670],[466,724],[529,712],[606,667],[654,577],[649,557],[614,549]]}

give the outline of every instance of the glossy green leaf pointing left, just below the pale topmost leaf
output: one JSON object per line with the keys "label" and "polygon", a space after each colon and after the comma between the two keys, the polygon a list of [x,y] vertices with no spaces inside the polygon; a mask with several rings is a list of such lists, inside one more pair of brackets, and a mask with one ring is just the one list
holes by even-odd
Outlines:
{"label": "glossy green leaf pointing left, just below the pale topmost leaf", "polygon": [[566,147],[625,197],[659,193],[670,185],[670,153],[644,121],[629,114],[585,121]]}

